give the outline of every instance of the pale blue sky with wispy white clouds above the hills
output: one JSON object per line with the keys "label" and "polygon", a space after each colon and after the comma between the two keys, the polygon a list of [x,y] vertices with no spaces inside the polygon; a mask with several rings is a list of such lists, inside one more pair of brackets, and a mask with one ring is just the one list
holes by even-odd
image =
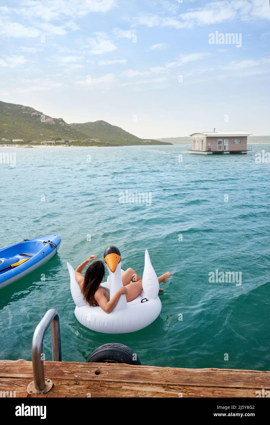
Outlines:
{"label": "pale blue sky with wispy white clouds above the hills", "polygon": [[0,42],[3,102],[144,139],[270,134],[268,0],[0,0]]}

